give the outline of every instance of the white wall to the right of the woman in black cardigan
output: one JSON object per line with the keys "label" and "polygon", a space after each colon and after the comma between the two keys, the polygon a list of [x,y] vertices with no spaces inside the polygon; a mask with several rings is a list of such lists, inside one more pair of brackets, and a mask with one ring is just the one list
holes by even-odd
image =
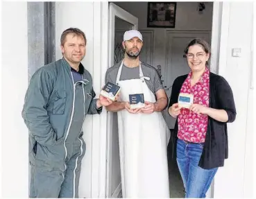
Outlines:
{"label": "white wall to the right of the woman in black cardigan", "polygon": [[[219,74],[232,87],[237,119],[228,124],[229,157],[216,173],[214,198],[253,197],[253,121],[250,84],[253,3],[223,3]],[[239,58],[232,49],[241,49]]]}

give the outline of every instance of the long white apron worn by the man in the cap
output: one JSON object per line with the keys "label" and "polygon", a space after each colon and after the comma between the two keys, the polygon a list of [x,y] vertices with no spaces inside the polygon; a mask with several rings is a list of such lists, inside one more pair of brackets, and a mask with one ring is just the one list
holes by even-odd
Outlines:
{"label": "long white apron worn by the man in the cap", "polygon": [[[121,80],[123,62],[117,74],[121,87],[119,101],[129,101],[129,94],[144,94],[155,103],[139,64],[139,79]],[[146,78],[148,79],[148,78]],[[118,112],[119,153],[123,198],[169,198],[167,144],[170,131],[161,112],[130,114]]]}

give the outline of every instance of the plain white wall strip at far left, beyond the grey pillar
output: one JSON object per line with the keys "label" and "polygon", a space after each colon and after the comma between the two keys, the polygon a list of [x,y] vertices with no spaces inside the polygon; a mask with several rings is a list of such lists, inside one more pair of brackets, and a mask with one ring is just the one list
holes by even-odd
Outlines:
{"label": "plain white wall strip at far left, beyond the grey pillar", "polygon": [[28,87],[27,3],[2,2],[2,198],[28,198],[28,129],[22,119]]}

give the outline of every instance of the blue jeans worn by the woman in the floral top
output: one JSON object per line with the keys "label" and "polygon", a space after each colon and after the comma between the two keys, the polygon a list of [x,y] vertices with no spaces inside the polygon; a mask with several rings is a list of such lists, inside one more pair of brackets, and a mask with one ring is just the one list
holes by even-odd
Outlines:
{"label": "blue jeans worn by the woman in the floral top", "polygon": [[203,169],[198,166],[203,144],[177,140],[177,163],[186,191],[185,198],[205,198],[218,168]]}

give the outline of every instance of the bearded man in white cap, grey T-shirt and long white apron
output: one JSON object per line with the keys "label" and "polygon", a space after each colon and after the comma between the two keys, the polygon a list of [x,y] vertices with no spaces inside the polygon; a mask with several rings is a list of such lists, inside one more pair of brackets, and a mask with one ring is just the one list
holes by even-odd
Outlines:
{"label": "bearded man in white cap, grey T-shirt and long white apron", "polygon": [[[106,108],[118,112],[123,198],[169,198],[167,95],[156,69],[139,61],[142,34],[126,31],[122,44],[124,58],[108,69],[105,82],[121,87],[119,100]],[[146,106],[131,110],[129,94],[144,94]]]}

